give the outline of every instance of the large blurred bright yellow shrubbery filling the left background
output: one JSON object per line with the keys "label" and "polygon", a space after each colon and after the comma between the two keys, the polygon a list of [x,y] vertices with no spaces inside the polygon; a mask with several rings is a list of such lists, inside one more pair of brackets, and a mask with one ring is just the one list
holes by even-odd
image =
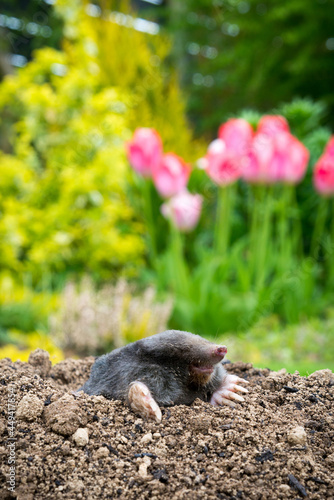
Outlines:
{"label": "large blurred bright yellow shrubbery filling the left background", "polygon": [[[56,9],[65,22],[62,50],[37,51],[0,85],[0,278],[23,289],[49,276],[138,274],[145,226],[128,199],[124,153],[134,128],[158,129],[166,150],[187,161],[202,153],[165,69],[167,39],[120,26],[106,9],[91,17],[79,0],[58,0]],[[15,301],[2,298],[0,330],[1,306]],[[35,311],[31,296],[23,303]]]}

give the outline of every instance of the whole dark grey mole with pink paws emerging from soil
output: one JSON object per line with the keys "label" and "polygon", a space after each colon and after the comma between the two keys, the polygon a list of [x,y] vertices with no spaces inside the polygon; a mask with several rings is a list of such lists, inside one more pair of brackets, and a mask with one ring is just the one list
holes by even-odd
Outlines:
{"label": "whole dark grey mole with pink paws emerging from soil", "polygon": [[222,365],[227,348],[189,332],[167,330],[98,357],[78,391],[128,403],[161,422],[160,406],[190,405],[196,398],[218,406],[244,401],[241,383]]}

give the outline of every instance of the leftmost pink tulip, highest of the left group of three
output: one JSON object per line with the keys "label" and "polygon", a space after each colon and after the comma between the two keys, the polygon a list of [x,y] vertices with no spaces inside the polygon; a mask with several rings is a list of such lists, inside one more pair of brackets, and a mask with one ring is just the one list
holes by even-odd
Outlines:
{"label": "leftmost pink tulip, highest of the left group of three", "polygon": [[162,141],[158,132],[152,128],[137,128],[127,144],[127,156],[138,174],[150,177],[162,157]]}

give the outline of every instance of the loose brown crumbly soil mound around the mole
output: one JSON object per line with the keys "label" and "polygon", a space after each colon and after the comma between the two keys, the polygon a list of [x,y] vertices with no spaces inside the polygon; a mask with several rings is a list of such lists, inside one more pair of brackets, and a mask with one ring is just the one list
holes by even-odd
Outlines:
{"label": "loose brown crumbly soil mound around the mole", "polygon": [[230,364],[250,382],[244,403],[196,400],[165,408],[157,424],[119,401],[73,395],[93,361],[51,368],[41,351],[0,361],[1,499],[334,499],[330,370],[305,378]]}

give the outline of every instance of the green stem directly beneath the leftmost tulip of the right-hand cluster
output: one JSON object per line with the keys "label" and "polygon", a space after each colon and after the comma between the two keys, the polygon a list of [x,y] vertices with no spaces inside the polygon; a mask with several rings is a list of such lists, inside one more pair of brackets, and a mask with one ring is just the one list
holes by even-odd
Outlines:
{"label": "green stem directly beneath the leftmost tulip of the right-hand cluster", "polygon": [[214,251],[220,258],[226,256],[230,241],[233,191],[233,185],[220,187],[218,191]]}

